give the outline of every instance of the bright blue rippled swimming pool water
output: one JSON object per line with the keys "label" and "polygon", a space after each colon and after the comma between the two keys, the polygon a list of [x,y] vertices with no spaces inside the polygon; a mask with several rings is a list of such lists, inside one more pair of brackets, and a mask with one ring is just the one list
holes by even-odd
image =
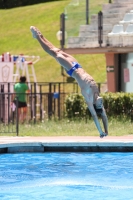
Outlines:
{"label": "bright blue rippled swimming pool water", "polygon": [[0,200],[133,200],[133,153],[0,155]]}

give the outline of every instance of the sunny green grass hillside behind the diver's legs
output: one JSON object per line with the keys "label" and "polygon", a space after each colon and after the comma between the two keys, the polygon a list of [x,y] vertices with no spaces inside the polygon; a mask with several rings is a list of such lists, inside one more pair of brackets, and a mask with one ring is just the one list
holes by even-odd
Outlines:
{"label": "sunny green grass hillside behind the diver's legs", "polygon": [[[0,54],[10,52],[13,55],[40,56],[35,64],[38,82],[62,81],[59,64],[47,55],[38,42],[32,38],[30,26],[37,26],[44,36],[60,47],[56,33],[60,29],[60,14],[71,0],[54,1],[14,9],[0,10]],[[101,10],[106,0],[90,0],[90,13]],[[74,55],[83,68],[97,82],[106,81],[104,55]],[[100,72],[100,75],[99,75]]]}

